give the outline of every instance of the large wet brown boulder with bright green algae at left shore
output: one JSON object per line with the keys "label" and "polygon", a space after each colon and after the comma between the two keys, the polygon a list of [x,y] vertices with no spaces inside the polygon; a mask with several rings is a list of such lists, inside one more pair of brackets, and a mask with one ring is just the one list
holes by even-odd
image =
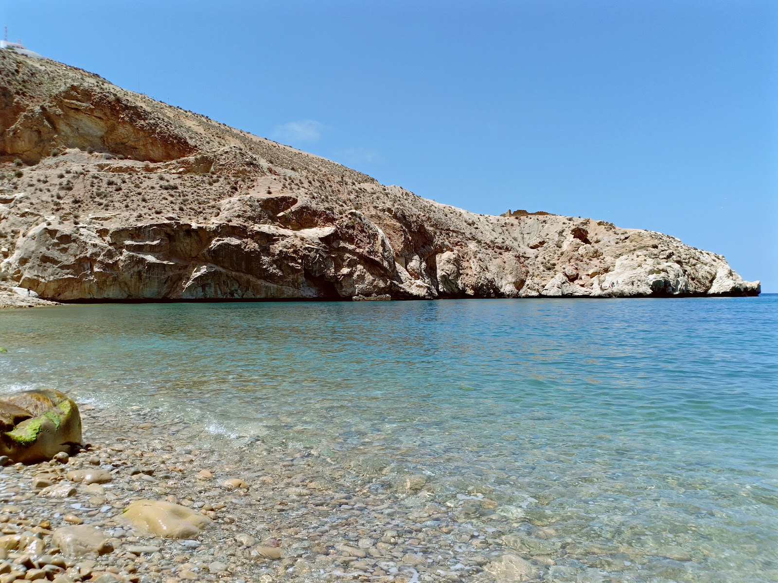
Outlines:
{"label": "large wet brown boulder with bright green algae at left shore", "polygon": [[0,455],[39,463],[81,444],[79,407],[53,389],[0,398]]}

